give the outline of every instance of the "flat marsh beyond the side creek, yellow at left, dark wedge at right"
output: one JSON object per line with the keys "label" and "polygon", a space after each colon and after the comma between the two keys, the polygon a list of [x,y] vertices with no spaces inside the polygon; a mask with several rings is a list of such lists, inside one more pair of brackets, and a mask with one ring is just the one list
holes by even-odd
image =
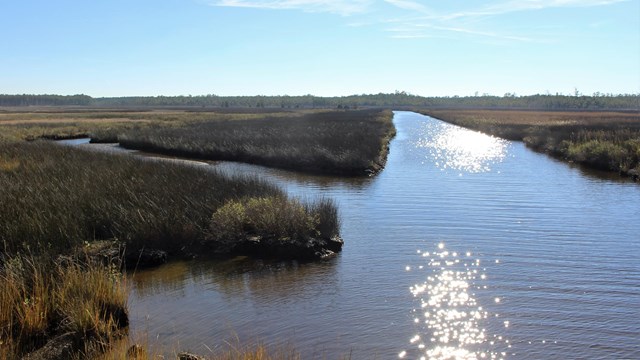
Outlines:
{"label": "flat marsh beyond the side creek, yellow at left, dark wedge at right", "polygon": [[[64,109],[63,109],[64,110]],[[120,142],[138,150],[231,160],[312,173],[380,171],[395,129],[392,113],[358,111],[104,111],[0,114],[9,139]]]}

